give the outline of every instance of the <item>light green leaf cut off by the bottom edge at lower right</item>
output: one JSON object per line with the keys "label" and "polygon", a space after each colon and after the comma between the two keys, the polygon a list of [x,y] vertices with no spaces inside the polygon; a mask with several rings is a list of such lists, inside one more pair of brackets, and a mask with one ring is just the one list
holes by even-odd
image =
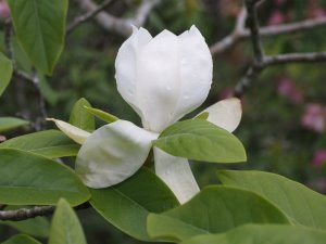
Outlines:
{"label": "light green leaf cut off by the bottom edge at lower right", "polygon": [[246,224],[223,234],[199,235],[181,244],[324,244],[326,233],[280,224]]}

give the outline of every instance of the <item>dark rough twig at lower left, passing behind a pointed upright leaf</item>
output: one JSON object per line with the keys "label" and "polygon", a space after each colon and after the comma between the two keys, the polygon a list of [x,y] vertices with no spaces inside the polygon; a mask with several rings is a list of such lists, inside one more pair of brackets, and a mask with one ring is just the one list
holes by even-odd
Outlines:
{"label": "dark rough twig at lower left, passing behind a pointed upright leaf", "polygon": [[[89,203],[75,207],[75,210],[89,208]],[[55,206],[35,206],[32,208],[20,208],[16,210],[0,210],[0,220],[21,221],[38,216],[49,216],[55,210]]]}

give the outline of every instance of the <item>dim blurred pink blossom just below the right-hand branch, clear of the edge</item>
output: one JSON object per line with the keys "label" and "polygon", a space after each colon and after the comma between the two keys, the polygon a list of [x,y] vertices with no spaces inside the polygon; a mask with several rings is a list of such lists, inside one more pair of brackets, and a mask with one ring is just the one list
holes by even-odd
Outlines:
{"label": "dim blurred pink blossom just below the right-hand branch, clear of the edge", "polygon": [[283,78],[278,81],[277,92],[287,98],[292,104],[303,103],[303,92],[289,78]]}

